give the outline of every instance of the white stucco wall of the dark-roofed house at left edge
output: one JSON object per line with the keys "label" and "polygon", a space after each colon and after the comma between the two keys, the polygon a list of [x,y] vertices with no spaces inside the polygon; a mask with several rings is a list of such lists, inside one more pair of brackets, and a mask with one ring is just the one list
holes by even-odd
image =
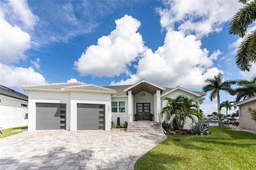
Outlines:
{"label": "white stucco wall of the dark-roofed house at left edge", "polygon": [[21,106],[21,104],[28,105],[27,101],[4,95],[0,95],[0,99],[0,127],[11,128],[28,125],[28,119],[24,119],[28,113],[28,107]]}

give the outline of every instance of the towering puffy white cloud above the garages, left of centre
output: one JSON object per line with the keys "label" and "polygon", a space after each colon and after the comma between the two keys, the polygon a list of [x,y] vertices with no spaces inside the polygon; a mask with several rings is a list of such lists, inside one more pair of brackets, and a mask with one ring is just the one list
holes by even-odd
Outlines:
{"label": "towering puffy white cloud above the garages, left of centre", "polygon": [[129,74],[128,66],[145,51],[142,36],[137,32],[140,22],[125,15],[115,21],[116,29],[98,39],[74,62],[80,75],[112,77]]}

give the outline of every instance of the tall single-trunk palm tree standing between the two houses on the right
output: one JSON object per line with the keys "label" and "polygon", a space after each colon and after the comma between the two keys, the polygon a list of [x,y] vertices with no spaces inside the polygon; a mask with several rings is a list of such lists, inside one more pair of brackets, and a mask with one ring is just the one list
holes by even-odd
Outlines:
{"label": "tall single-trunk palm tree standing between the two houses on the right", "polygon": [[[218,113],[220,114],[220,90],[228,92],[230,95],[234,95],[235,91],[231,88],[231,85],[236,84],[237,81],[235,80],[222,80],[221,73],[218,73],[213,77],[213,79],[206,79],[205,82],[208,83],[207,85],[204,85],[202,88],[203,91],[210,93],[210,101],[215,99],[217,97],[217,107],[218,107]],[[219,120],[219,126],[221,126],[221,121]]]}

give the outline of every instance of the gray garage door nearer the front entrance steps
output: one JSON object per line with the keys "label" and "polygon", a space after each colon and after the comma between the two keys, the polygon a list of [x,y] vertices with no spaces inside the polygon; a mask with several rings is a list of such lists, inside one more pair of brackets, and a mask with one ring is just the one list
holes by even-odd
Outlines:
{"label": "gray garage door nearer the front entrance steps", "polygon": [[77,104],[77,130],[105,129],[105,105]]}

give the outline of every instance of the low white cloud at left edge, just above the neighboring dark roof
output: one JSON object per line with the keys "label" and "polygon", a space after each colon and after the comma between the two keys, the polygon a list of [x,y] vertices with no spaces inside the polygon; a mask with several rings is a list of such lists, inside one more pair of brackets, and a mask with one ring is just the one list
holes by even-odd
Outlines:
{"label": "low white cloud at left edge, just above the neighboring dark roof", "polygon": [[46,83],[43,75],[36,73],[32,67],[23,68],[0,64],[0,70],[0,82],[7,87]]}

